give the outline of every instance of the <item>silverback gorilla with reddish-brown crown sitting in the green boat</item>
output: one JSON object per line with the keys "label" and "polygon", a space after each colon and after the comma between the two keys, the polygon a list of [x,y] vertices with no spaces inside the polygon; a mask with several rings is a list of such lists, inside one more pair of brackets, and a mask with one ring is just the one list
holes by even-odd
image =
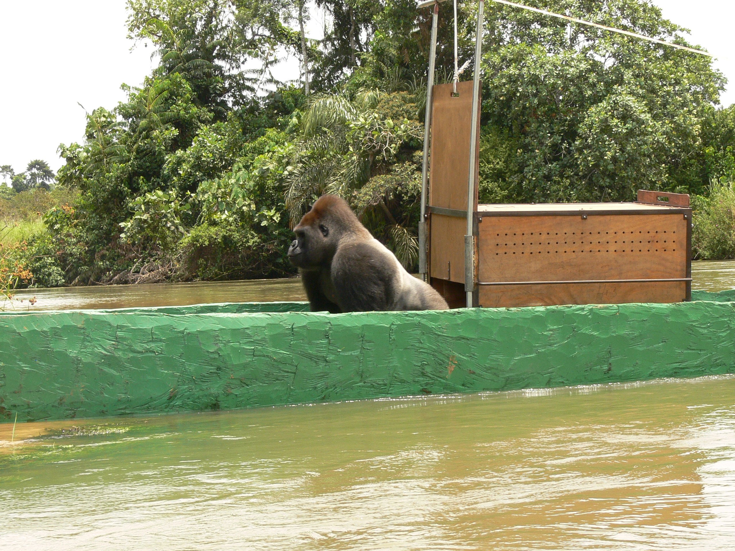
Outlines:
{"label": "silverback gorilla with reddish-brown crown sitting in the green boat", "polygon": [[442,296],[409,274],[337,195],[323,195],[293,228],[288,249],[312,311],[446,310]]}

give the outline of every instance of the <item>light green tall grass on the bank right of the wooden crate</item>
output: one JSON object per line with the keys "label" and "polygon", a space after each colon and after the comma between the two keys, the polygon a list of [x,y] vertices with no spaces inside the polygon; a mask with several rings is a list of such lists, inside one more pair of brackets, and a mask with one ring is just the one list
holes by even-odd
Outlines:
{"label": "light green tall grass on the bank right of the wooden crate", "polygon": [[696,197],[692,253],[696,259],[735,259],[735,190],[732,181],[713,181],[709,197]]}

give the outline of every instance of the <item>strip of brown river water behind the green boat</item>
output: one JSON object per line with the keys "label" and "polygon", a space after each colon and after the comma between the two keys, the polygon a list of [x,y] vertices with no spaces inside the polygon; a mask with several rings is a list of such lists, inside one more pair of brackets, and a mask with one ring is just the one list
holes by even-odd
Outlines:
{"label": "strip of brown river water behind the green boat", "polygon": [[[692,262],[693,289],[735,288],[735,261]],[[110,309],[140,306],[185,306],[219,302],[306,300],[298,278],[152,285],[109,285],[28,289],[18,292],[10,308],[18,310]],[[29,303],[35,298],[37,303]],[[22,302],[21,302],[22,301]]]}

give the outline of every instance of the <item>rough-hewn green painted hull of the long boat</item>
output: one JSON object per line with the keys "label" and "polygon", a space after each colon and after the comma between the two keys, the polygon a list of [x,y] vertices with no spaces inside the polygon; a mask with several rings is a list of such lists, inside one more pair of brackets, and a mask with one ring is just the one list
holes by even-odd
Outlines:
{"label": "rough-hewn green painted hull of the long boat", "polygon": [[735,372],[735,292],[694,302],[322,314],[257,303],[0,314],[0,420]]}

